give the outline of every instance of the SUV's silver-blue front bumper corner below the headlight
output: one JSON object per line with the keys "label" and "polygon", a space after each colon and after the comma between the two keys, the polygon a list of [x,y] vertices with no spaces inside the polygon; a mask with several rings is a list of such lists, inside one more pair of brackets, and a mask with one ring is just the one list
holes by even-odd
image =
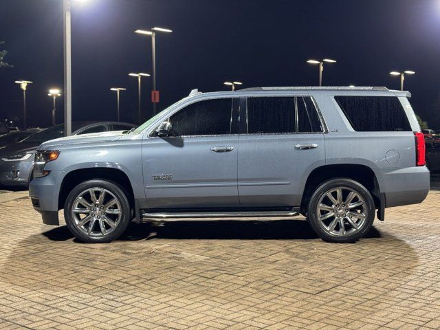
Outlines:
{"label": "SUV's silver-blue front bumper corner below the headlight", "polygon": [[[55,172],[55,171],[53,171]],[[58,220],[58,184],[56,173],[30,181],[29,196],[34,209],[41,213],[46,225],[59,225]]]}

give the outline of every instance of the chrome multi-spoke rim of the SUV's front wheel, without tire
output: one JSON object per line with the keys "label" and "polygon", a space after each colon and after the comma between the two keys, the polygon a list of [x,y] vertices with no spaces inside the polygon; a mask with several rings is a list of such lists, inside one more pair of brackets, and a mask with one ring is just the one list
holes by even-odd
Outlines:
{"label": "chrome multi-spoke rim of the SUV's front wheel, without tire", "polygon": [[76,197],[72,218],[88,236],[107,236],[118,227],[122,217],[120,201],[104,188],[89,188]]}

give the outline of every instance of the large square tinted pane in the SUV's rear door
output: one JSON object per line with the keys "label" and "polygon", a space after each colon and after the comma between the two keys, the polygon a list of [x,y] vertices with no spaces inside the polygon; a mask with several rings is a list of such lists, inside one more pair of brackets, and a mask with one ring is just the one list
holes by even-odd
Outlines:
{"label": "large square tinted pane in the SUV's rear door", "polygon": [[248,133],[295,131],[294,98],[248,98]]}

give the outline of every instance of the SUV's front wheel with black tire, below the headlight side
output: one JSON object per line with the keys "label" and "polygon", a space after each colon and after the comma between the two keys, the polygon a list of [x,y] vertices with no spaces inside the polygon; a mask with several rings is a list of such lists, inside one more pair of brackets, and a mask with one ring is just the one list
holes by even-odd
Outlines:
{"label": "SUV's front wheel with black tire, below the headlight side", "polygon": [[[96,188],[96,189],[95,189]],[[72,208],[74,208],[74,203],[76,204],[76,199],[77,197],[80,197],[80,195],[85,194],[86,190],[89,189],[93,189],[92,191],[98,192],[100,191],[100,189],[104,189],[106,192],[104,194],[105,198],[107,195],[107,198],[110,198],[110,200],[112,201],[113,199],[117,199],[118,202],[118,206],[116,209],[114,208],[108,208],[108,212],[111,211],[118,211],[118,214],[107,214],[107,210],[99,210],[99,208],[96,208],[96,210],[94,210],[94,205],[90,205],[91,208],[87,209],[86,206],[85,210],[87,210],[87,212],[90,212],[89,217],[91,217],[91,210],[94,210],[93,213],[94,217],[92,219],[94,219],[93,221],[89,221],[90,223],[93,223],[93,225],[91,225],[92,227],[92,232],[90,234],[87,234],[85,232],[85,230],[87,229],[87,223],[85,223],[85,225],[83,226],[78,226],[78,223],[81,220],[80,216],[76,216],[73,211]],[[94,195],[96,196],[96,193],[94,192]],[[85,196],[85,195],[84,195]],[[98,195],[100,196],[100,195]],[[84,181],[81,184],[78,184],[78,186],[76,186],[74,189],[72,189],[72,191],[69,193],[69,195],[67,196],[67,199],[65,201],[65,205],[64,205],[64,218],[65,218],[65,222],[67,224],[67,228],[69,229],[70,232],[72,232],[72,234],[74,234],[74,236],[80,240],[83,241],[85,243],[108,243],[111,242],[115,239],[118,239],[121,234],[126,230],[127,226],[129,225],[130,221],[131,221],[131,208],[130,208],[130,203],[128,200],[128,195],[126,194],[124,188],[122,188],[120,185],[116,184],[113,181],[109,181],[109,180],[105,180],[105,179],[92,179],[92,180],[88,180],[88,181]],[[89,203],[91,201],[91,198],[89,201],[85,201],[86,203]],[[109,199],[107,199],[107,203],[108,203]],[[99,201],[97,202],[99,203]],[[102,201],[102,203],[100,203],[99,205],[102,205],[103,208],[104,207],[104,203],[105,200]],[[83,204],[78,204],[78,205],[83,205]],[[96,204],[98,205],[98,204]],[[115,204],[113,204],[115,205]],[[90,210],[90,211],[89,211]],[[105,212],[101,212],[101,211],[105,211]],[[84,212],[84,217],[87,217],[87,213]],[[104,215],[100,215],[100,214],[104,214]],[[99,219],[96,218],[100,218],[102,217],[101,221],[99,221]],[[109,219],[107,219],[106,217],[108,217],[109,219],[116,219],[115,221],[113,221],[113,225],[114,227],[112,228],[109,225],[109,222],[104,222],[104,221],[110,221]],[[112,217],[112,218],[111,218]],[[104,220],[104,218],[106,218],[106,220]],[[96,223],[96,221],[98,221],[98,223]],[[102,224],[103,223],[103,224]],[[101,225],[104,226],[104,230],[102,230]],[[94,234],[94,229],[93,228],[97,228],[97,232],[100,230],[101,232],[108,232],[108,234],[102,234],[102,236],[98,236],[98,234]],[[105,229],[107,228],[107,229]]]}

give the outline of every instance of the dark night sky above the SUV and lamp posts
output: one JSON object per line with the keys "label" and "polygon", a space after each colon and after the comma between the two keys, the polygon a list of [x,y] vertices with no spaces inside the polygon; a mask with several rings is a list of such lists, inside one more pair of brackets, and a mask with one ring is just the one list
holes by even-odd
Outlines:
{"label": "dark night sky above the SUV and lamp posts", "polygon": [[[21,118],[28,88],[28,124],[50,125],[50,87],[63,87],[62,0],[0,0],[0,50],[13,68],[0,68],[0,118]],[[73,120],[135,122],[137,80],[151,73],[151,39],[133,33],[154,26],[157,34],[158,109],[190,89],[318,84],[307,59],[334,58],[323,85],[399,89],[393,70],[411,69],[405,89],[433,129],[440,129],[440,0],[72,0]],[[143,79],[144,117],[152,113],[151,78]],[[58,122],[63,99],[58,100]]]}

